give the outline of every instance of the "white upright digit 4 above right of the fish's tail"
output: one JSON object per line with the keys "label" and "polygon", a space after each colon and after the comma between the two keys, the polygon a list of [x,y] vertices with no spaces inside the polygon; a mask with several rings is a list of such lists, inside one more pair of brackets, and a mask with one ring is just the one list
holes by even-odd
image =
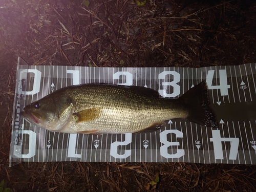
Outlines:
{"label": "white upright digit 4 above right of the fish's tail", "polygon": [[221,96],[228,95],[228,89],[230,85],[227,84],[227,71],[225,69],[220,69],[220,85],[219,86],[212,86],[212,80],[214,79],[215,70],[209,70],[206,77],[206,82],[208,85],[208,89],[220,89]]}

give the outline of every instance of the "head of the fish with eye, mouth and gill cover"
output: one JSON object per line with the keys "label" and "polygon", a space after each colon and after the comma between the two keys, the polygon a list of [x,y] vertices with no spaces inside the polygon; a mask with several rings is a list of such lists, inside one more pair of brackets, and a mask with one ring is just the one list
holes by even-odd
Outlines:
{"label": "head of the fish with eye, mouth and gill cover", "polygon": [[69,96],[50,94],[25,106],[22,115],[32,124],[58,132],[69,124],[74,110]]}

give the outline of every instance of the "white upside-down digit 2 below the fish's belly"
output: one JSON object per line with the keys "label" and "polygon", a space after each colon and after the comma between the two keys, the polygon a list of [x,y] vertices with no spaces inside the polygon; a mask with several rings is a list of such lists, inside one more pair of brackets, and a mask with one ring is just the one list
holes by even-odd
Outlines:
{"label": "white upside-down digit 2 below the fish's belly", "polygon": [[119,158],[119,159],[125,159],[129,156],[131,156],[132,154],[132,150],[125,150],[123,155],[118,154],[118,146],[120,145],[127,145],[130,144],[132,142],[132,134],[131,133],[125,133],[122,134],[125,135],[125,140],[124,141],[115,141],[113,143],[111,143],[110,145],[110,155],[115,157],[115,158]]}

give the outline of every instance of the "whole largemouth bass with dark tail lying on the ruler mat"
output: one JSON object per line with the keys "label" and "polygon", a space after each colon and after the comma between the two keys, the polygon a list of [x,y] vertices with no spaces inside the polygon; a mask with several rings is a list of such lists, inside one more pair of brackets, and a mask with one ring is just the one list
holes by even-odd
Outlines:
{"label": "whole largemouth bass with dark tail lying on the ruler mat", "polygon": [[218,127],[205,81],[177,99],[145,87],[79,84],[26,105],[22,115],[34,125],[60,133],[148,133],[163,129],[165,121],[175,118]]}

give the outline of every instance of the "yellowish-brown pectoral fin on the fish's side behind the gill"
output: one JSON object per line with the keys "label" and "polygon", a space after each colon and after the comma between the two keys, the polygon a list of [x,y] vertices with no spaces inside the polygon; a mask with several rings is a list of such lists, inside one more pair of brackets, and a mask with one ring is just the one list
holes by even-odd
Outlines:
{"label": "yellowish-brown pectoral fin on the fish's side behind the gill", "polygon": [[75,116],[76,122],[79,123],[94,120],[99,117],[99,113],[99,108],[90,108],[74,113],[73,116]]}

